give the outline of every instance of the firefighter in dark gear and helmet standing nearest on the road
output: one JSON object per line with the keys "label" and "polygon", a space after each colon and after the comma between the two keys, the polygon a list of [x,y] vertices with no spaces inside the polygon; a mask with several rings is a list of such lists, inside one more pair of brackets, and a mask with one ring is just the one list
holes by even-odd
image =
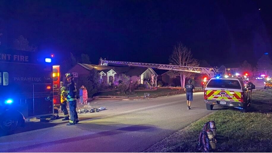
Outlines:
{"label": "firefighter in dark gear and helmet standing nearest on the road", "polygon": [[77,94],[76,94],[76,88],[74,83],[74,76],[71,73],[66,73],[65,77],[67,78],[69,85],[68,85],[68,95],[67,95],[67,101],[69,102],[69,109],[70,109],[70,120],[68,125],[75,125],[79,122],[78,120],[78,113],[76,111],[77,108]]}

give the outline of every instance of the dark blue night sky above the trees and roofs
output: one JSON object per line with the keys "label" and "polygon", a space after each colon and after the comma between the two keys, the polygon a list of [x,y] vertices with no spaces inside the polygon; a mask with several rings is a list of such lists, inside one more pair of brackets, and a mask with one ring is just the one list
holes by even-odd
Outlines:
{"label": "dark blue night sky above the trees and roofs", "polygon": [[[93,64],[168,64],[181,41],[212,66],[271,57],[272,1],[0,1],[3,46],[23,35],[38,50]],[[260,9],[260,10],[259,10]]]}

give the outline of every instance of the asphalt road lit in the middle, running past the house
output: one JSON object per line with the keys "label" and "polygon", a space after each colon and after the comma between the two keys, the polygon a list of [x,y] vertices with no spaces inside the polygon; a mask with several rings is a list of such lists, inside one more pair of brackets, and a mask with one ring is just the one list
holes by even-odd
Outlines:
{"label": "asphalt road lit in the middle, running past the house", "polygon": [[80,124],[72,126],[61,120],[27,122],[23,132],[0,137],[0,152],[141,152],[212,112],[206,110],[203,92],[194,93],[191,110],[184,94],[95,102],[107,110],[79,114]]}

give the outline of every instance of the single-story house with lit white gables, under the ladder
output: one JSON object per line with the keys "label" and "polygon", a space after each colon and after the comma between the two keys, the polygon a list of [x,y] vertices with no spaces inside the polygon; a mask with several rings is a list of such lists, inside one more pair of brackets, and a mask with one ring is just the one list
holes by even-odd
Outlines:
{"label": "single-story house with lit white gables, under the ladder", "polygon": [[89,74],[90,70],[92,69],[96,69],[99,72],[101,84],[113,83],[117,75],[126,74],[132,80],[133,84],[135,84],[136,82],[143,84],[144,81],[148,81],[154,83],[154,86],[156,87],[158,75],[153,69],[147,67],[132,67],[132,66],[112,67],[77,63],[67,73],[72,73],[75,76],[75,78],[78,78],[80,77],[80,75]]}

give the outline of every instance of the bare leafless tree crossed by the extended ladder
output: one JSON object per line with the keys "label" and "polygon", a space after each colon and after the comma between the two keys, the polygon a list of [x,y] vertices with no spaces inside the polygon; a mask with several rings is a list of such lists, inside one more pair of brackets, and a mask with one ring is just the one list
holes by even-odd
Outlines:
{"label": "bare leafless tree crossed by the extended ladder", "polygon": [[[169,57],[169,61],[172,65],[179,66],[199,66],[197,59],[193,58],[193,54],[191,49],[188,49],[186,46],[183,46],[181,42],[179,42],[176,46],[174,46],[173,52]],[[171,78],[175,78],[176,76],[180,76],[181,79],[181,88],[185,86],[185,79],[192,75],[192,72],[182,72],[182,71],[174,71],[170,75]]]}

